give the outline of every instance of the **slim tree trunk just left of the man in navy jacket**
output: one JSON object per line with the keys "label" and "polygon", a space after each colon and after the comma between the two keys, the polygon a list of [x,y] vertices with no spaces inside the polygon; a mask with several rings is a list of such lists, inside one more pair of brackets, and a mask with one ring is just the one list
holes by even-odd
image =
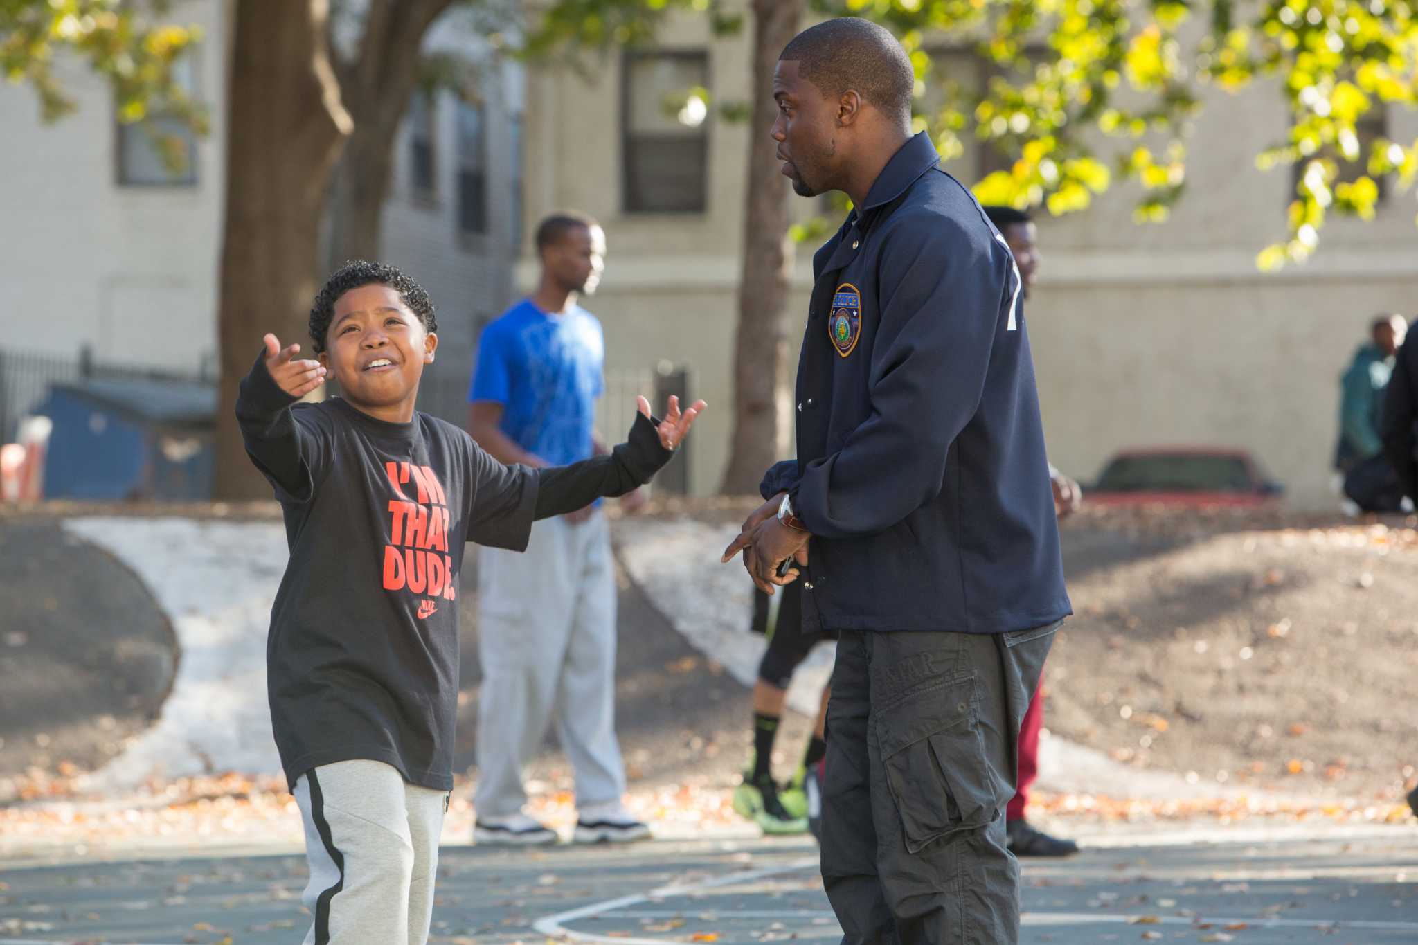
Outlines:
{"label": "slim tree trunk just left of the man in navy jacket", "polygon": [[733,343],[733,441],[722,492],[753,493],[787,449],[788,184],[778,173],[769,128],[777,113],[773,69],[797,31],[804,0],[753,0],[753,126],[743,220],[739,327]]}

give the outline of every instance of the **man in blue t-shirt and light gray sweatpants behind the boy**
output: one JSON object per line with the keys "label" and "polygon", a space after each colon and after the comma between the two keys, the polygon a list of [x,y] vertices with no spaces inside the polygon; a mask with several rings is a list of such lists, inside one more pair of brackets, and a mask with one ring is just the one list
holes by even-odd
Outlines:
{"label": "man in blue t-shirt and light gray sweatpants behind the boy", "polygon": [[[482,332],[468,392],[468,432],[503,463],[557,466],[605,452],[591,431],[604,381],[601,324],[577,305],[596,290],[605,234],[590,217],[554,214],[536,231],[536,292]],[[644,504],[634,492],[621,502]],[[526,554],[478,555],[479,844],[537,846],[556,833],[523,810],[522,769],[556,717],[576,772],[574,839],[628,842],[649,827],[621,803],[615,740],[615,579],[597,506],[539,521]]]}

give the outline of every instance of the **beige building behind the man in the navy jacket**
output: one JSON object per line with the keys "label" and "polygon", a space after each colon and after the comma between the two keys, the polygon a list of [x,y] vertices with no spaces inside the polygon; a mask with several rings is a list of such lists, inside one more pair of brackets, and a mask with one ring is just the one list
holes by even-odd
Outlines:
{"label": "beige building behind the man in the navy jacket", "polygon": [[[696,85],[716,102],[746,101],[749,52],[747,31],[713,40],[702,17],[683,17],[658,48],[611,55],[590,78],[527,77],[529,225],[556,208],[605,225],[605,276],[587,306],[605,326],[607,367],[692,368],[693,394],[710,402],[691,469],[700,494],[718,489],[726,462],[744,162],[749,135],[767,129],[695,102],[666,116],[662,102]],[[1307,265],[1258,272],[1293,191],[1288,170],[1262,173],[1254,157],[1288,120],[1273,86],[1207,91],[1188,193],[1168,222],[1134,224],[1130,186],[1083,214],[1041,218],[1044,269],[1027,313],[1056,465],[1086,480],[1124,446],[1241,446],[1293,504],[1334,503],[1339,375],[1375,312],[1418,313],[1415,204],[1390,187],[1374,221],[1333,220]],[[1390,136],[1418,136],[1418,115],[1387,120]],[[947,169],[970,183],[974,157]],[[821,208],[794,201],[803,217]],[[814,248],[798,254],[795,320]],[[523,256],[519,282],[533,271]]]}

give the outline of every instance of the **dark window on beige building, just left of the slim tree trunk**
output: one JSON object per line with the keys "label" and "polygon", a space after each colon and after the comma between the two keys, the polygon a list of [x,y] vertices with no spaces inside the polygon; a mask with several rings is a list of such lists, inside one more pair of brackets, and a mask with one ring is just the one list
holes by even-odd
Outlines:
{"label": "dark window on beige building, just left of the slim tree trunk", "polygon": [[703,213],[706,52],[627,52],[621,88],[627,213]]}

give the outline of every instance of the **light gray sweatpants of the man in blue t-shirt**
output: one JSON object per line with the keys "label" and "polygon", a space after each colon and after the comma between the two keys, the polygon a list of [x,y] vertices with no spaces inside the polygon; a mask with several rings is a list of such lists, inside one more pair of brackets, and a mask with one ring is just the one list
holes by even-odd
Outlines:
{"label": "light gray sweatpants of the man in blue t-shirt", "polygon": [[615,740],[615,572],[610,526],[545,519],[523,554],[478,551],[479,817],[518,813],[522,769],[556,715],[580,808],[625,793]]}

